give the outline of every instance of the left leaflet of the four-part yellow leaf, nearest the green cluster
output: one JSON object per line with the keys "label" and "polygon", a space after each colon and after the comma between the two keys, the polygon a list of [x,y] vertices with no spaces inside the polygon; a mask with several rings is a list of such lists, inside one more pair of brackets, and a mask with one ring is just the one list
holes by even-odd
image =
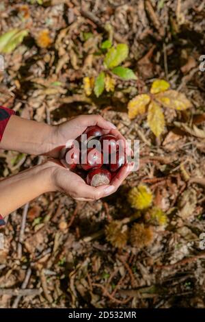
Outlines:
{"label": "left leaflet of the four-part yellow leaf, nearest the green cluster", "polygon": [[146,106],[150,102],[150,97],[147,94],[135,96],[128,102],[128,116],[130,119],[135,119],[139,114],[146,112]]}

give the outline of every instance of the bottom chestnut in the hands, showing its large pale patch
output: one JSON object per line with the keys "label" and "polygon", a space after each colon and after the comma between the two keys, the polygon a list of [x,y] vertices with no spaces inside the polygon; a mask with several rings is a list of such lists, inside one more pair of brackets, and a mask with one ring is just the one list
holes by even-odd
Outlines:
{"label": "bottom chestnut in the hands, showing its large pale patch", "polygon": [[86,182],[94,187],[110,184],[111,173],[107,169],[92,169],[87,173]]}

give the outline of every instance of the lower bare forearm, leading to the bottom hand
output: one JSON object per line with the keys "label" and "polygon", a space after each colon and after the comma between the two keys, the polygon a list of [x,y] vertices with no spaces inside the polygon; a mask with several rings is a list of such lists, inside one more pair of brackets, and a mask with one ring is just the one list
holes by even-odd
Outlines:
{"label": "lower bare forearm, leading to the bottom hand", "polygon": [[0,181],[0,214],[6,216],[28,201],[53,190],[52,166],[47,163]]}

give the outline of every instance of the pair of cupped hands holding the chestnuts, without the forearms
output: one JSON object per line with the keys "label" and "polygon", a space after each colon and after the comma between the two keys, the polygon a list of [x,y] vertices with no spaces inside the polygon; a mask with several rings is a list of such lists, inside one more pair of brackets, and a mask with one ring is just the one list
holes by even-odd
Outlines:
{"label": "pair of cupped hands holding the chestnuts, without the forearms", "polygon": [[[124,142],[126,141],[124,136],[116,129],[115,125],[106,121],[100,115],[81,115],[70,119],[70,121],[61,123],[55,126],[55,136],[60,145],[65,146],[68,141],[72,142],[72,140],[81,136],[87,127],[92,125],[101,127],[103,134],[113,134],[116,138],[124,140]],[[50,156],[54,156],[55,158],[59,157],[56,152],[53,155],[50,153]],[[53,179],[57,190],[79,201],[94,201],[115,193],[134,167],[133,163],[124,164],[109,185],[93,187],[87,185],[76,173],[61,166],[57,160],[53,159],[47,162],[55,162]]]}

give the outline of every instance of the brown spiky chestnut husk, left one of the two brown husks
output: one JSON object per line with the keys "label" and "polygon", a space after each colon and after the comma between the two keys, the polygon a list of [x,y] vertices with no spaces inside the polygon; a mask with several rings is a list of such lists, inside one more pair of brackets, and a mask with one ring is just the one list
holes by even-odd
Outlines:
{"label": "brown spiky chestnut husk, left one of the two brown husks", "polygon": [[113,247],[123,248],[128,240],[128,227],[122,225],[120,221],[111,221],[105,227],[105,236]]}

